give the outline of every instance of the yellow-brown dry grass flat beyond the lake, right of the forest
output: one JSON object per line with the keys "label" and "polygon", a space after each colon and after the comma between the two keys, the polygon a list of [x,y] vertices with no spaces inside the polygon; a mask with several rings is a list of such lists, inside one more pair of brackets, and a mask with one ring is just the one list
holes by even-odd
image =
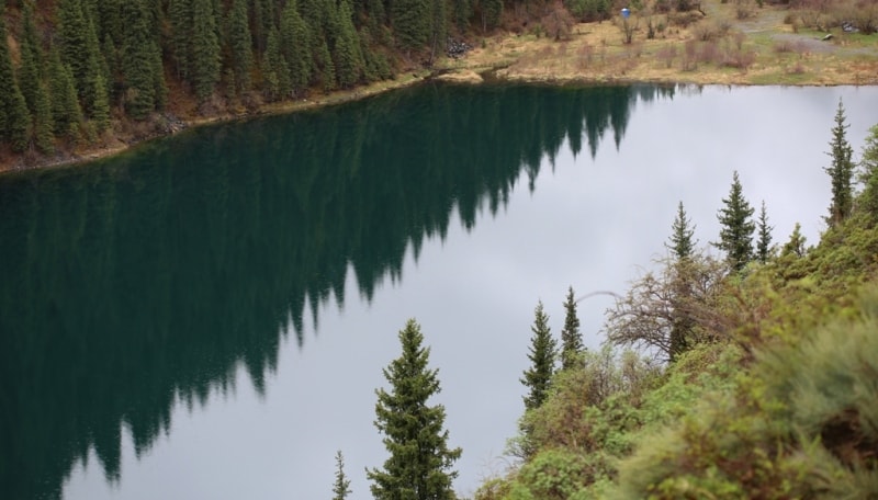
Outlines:
{"label": "yellow-brown dry grass flat beyond the lake, right of the forest", "polygon": [[[446,67],[452,72],[494,70],[498,78],[528,82],[878,84],[878,35],[834,33],[833,41],[821,42],[821,33],[793,33],[784,24],[784,8],[755,9],[743,20],[731,3],[719,0],[706,2],[705,10],[707,16],[687,26],[654,15],[654,25],[666,26],[654,39],[646,39],[646,20],[641,19],[631,45],[622,43],[622,31],[609,21],[577,24],[571,39],[561,43],[498,35]],[[796,49],[777,50],[778,44]]]}

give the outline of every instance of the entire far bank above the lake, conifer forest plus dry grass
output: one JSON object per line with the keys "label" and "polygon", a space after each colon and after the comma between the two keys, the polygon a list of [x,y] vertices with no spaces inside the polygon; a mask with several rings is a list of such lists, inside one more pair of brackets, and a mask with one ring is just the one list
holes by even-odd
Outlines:
{"label": "entire far bank above the lake, conifer forest plus dry grass", "polygon": [[5,0],[0,170],[354,99],[437,70],[471,80],[498,69],[511,80],[878,83],[875,2],[769,3]]}

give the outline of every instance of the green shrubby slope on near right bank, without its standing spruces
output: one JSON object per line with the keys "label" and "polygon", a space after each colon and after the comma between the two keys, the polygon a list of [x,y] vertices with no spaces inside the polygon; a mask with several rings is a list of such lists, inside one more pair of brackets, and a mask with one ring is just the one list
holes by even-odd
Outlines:
{"label": "green shrubby slope on near right bank, without its standing spruces", "polygon": [[664,373],[587,354],[525,417],[536,453],[476,499],[876,498],[877,223],[729,280],[721,340]]}

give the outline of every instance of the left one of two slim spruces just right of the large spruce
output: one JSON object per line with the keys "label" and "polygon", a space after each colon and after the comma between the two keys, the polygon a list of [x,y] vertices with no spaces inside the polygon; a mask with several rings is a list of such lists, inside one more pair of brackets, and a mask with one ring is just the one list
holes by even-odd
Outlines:
{"label": "left one of two slim spruces just right of the large spruce", "polygon": [[528,354],[531,366],[525,371],[525,378],[521,378],[521,384],[529,389],[529,394],[524,397],[525,408],[528,410],[542,406],[549,395],[558,350],[549,329],[549,316],[543,310],[542,300],[537,304],[533,315],[533,326],[531,327],[533,337],[530,338],[530,353]]}

